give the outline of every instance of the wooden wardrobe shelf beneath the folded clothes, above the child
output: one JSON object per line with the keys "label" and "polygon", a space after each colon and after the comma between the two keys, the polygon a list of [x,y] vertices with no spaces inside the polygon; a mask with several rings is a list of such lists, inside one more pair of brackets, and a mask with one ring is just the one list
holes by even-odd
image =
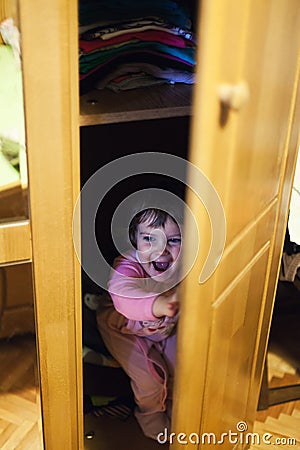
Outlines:
{"label": "wooden wardrobe shelf beneath the folded clothes, above the child", "polygon": [[182,117],[191,114],[192,85],[160,85],[115,93],[92,90],[80,97],[80,126]]}

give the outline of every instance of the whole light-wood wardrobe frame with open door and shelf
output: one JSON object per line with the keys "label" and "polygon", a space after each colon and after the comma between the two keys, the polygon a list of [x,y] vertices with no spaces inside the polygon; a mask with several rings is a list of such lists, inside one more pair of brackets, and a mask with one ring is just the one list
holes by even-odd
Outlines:
{"label": "whole light-wood wardrobe frame with open door and shelf", "polygon": [[[81,280],[72,240],[80,127],[120,122],[190,117],[188,159],[225,212],[225,248],[219,243],[214,255],[221,262],[200,283],[217,228],[211,205],[189,190],[201,245],[182,283],[174,432],[185,434],[185,448],[206,449],[207,441],[189,438],[235,432],[241,421],[252,429],[299,145],[300,9],[298,0],[197,6],[196,85],[147,90],[149,98],[137,92],[131,108],[96,92],[80,99],[76,2],[18,4],[46,450],[83,448]],[[188,183],[197,186],[193,177]],[[188,253],[188,222],[186,229]],[[181,447],[175,438],[172,448]]]}

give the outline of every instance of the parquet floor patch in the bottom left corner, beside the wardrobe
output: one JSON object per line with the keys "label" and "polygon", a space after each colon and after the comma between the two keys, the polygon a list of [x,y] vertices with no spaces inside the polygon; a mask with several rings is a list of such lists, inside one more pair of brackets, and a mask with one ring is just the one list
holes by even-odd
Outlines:
{"label": "parquet floor patch in the bottom left corner, beside the wardrobe", "polygon": [[0,341],[0,449],[40,450],[41,409],[35,337]]}

